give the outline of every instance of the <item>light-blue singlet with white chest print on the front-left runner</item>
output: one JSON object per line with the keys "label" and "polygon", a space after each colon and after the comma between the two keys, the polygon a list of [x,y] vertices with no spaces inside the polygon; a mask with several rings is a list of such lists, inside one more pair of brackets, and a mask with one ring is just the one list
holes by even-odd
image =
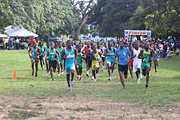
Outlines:
{"label": "light-blue singlet with white chest print on the front-left runner", "polygon": [[66,56],[66,55],[67,55],[67,57],[65,58],[65,66],[69,66],[69,65],[75,64],[74,49],[72,48],[72,50],[69,52],[69,51],[65,48],[65,56]]}

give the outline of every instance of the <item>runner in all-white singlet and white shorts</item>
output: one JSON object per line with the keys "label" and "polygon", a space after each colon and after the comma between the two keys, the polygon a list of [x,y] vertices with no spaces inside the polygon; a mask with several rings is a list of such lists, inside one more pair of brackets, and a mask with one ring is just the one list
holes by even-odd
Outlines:
{"label": "runner in all-white singlet and white shorts", "polygon": [[139,43],[138,43],[138,41],[135,41],[134,49],[131,53],[131,56],[132,56],[132,58],[134,58],[133,72],[136,73],[137,83],[140,83],[140,79],[142,78],[142,75],[140,73],[142,60],[138,58],[140,52],[141,52],[141,49],[139,48]]}

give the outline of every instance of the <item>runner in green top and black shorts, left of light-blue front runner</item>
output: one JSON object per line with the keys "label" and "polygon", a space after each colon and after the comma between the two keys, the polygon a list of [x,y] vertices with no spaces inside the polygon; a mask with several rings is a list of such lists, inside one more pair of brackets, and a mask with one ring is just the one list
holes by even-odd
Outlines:
{"label": "runner in green top and black shorts, left of light-blue front runner", "polygon": [[59,52],[54,49],[54,44],[51,43],[51,49],[47,52],[47,60],[49,60],[49,67],[50,67],[50,73],[52,81],[54,81],[53,78],[53,72],[56,71],[56,65],[57,65],[57,58],[59,58]]}

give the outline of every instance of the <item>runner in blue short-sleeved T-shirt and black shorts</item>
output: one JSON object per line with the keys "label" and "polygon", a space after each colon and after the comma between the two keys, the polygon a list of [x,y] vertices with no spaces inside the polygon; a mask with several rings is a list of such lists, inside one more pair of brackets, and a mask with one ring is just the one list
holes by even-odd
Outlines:
{"label": "runner in blue short-sleeved T-shirt and black shorts", "polygon": [[[131,58],[131,52],[124,47],[124,42],[120,42],[120,47],[115,52],[115,64],[117,63],[116,57],[118,57],[118,72],[120,76],[120,80],[122,83],[122,86],[124,90],[126,90],[125,84],[124,84],[124,78],[127,78],[128,74],[128,62],[129,58]],[[124,78],[123,78],[124,73]]]}

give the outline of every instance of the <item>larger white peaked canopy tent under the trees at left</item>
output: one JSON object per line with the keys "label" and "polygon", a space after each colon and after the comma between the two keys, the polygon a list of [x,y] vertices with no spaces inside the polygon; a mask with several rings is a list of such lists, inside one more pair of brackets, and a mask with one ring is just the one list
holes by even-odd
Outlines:
{"label": "larger white peaked canopy tent under the trees at left", "polygon": [[37,34],[24,28],[20,28],[19,26],[8,26],[5,28],[5,33],[7,33],[10,37],[38,37]]}

